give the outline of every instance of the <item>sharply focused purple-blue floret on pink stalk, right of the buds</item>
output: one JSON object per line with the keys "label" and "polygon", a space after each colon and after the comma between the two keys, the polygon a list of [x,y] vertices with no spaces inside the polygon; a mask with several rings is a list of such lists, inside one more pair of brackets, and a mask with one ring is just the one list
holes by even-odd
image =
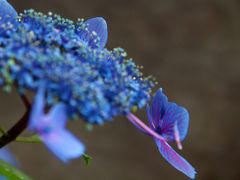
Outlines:
{"label": "sharply focused purple-blue floret on pink stalk, right of the buds", "polygon": [[147,115],[150,128],[133,114],[127,117],[139,130],[154,137],[159,152],[173,167],[194,179],[195,169],[168,144],[176,141],[178,148],[182,149],[180,142],[186,137],[189,126],[188,111],[173,102],[168,102],[160,88],[153,97],[151,109],[147,105]]}

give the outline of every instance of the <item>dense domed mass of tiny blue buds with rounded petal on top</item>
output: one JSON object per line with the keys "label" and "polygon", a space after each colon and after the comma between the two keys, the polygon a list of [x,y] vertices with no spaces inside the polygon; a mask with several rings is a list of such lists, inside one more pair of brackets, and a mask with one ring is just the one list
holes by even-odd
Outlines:
{"label": "dense domed mass of tiny blue buds with rounded petal on top", "polygon": [[[5,9],[9,9],[5,7]],[[101,18],[73,21],[26,10],[11,23],[0,21],[0,85],[20,93],[47,80],[46,104],[63,102],[68,117],[102,124],[142,108],[154,81],[121,48],[110,51]]]}

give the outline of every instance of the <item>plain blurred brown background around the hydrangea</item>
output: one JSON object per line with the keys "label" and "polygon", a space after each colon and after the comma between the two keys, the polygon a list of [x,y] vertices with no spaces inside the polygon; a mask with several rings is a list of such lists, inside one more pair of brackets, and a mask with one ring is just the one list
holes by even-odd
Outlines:
{"label": "plain blurred brown background around the hydrangea", "polygon": [[[170,101],[190,113],[180,152],[199,180],[239,180],[240,1],[238,0],[9,0],[18,12],[34,8],[76,20],[107,20],[107,47],[123,47],[153,74]],[[157,90],[157,88],[155,90]],[[0,118],[10,128],[24,113],[16,95],[0,94]],[[145,109],[138,116],[146,120]],[[92,132],[82,121],[68,127],[93,156],[65,165],[44,145],[12,143],[23,171],[40,180],[184,180],[159,154],[151,137],[125,117]],[[176,146],[173,145],[176,149]]]}

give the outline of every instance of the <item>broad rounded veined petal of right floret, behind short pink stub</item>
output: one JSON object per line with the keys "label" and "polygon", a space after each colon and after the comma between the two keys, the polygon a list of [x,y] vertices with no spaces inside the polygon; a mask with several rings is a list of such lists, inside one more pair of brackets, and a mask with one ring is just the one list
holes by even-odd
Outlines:
{"label": "broad rounded veined petal of right floret, behind short pink stub", "polygon": [[180,141],[183,141],[188,132],[189,114],[188,111],[175,103],[169,102],[163,121],[161,124],[161,133],[170,142],[175,141],[174,126],[178,128]]}

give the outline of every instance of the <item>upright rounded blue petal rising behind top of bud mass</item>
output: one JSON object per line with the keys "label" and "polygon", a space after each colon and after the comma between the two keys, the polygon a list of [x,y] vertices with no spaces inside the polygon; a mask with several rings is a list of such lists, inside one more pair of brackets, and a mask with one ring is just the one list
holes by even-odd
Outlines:
{"label": "upright rounded blue petal rising behind top of bud mass", "polygon": [[104,18],[96,17],[88,19],[85,24],[87,24],[88,31],[83,31],[81,34],[81,39],[89,43],[90,46],[94,46],[94,41],[89,41],[92,32],[95,31],[97,36],[100,38],[100,47],[104,48],[107,43],[108,31],[107,23]]}

